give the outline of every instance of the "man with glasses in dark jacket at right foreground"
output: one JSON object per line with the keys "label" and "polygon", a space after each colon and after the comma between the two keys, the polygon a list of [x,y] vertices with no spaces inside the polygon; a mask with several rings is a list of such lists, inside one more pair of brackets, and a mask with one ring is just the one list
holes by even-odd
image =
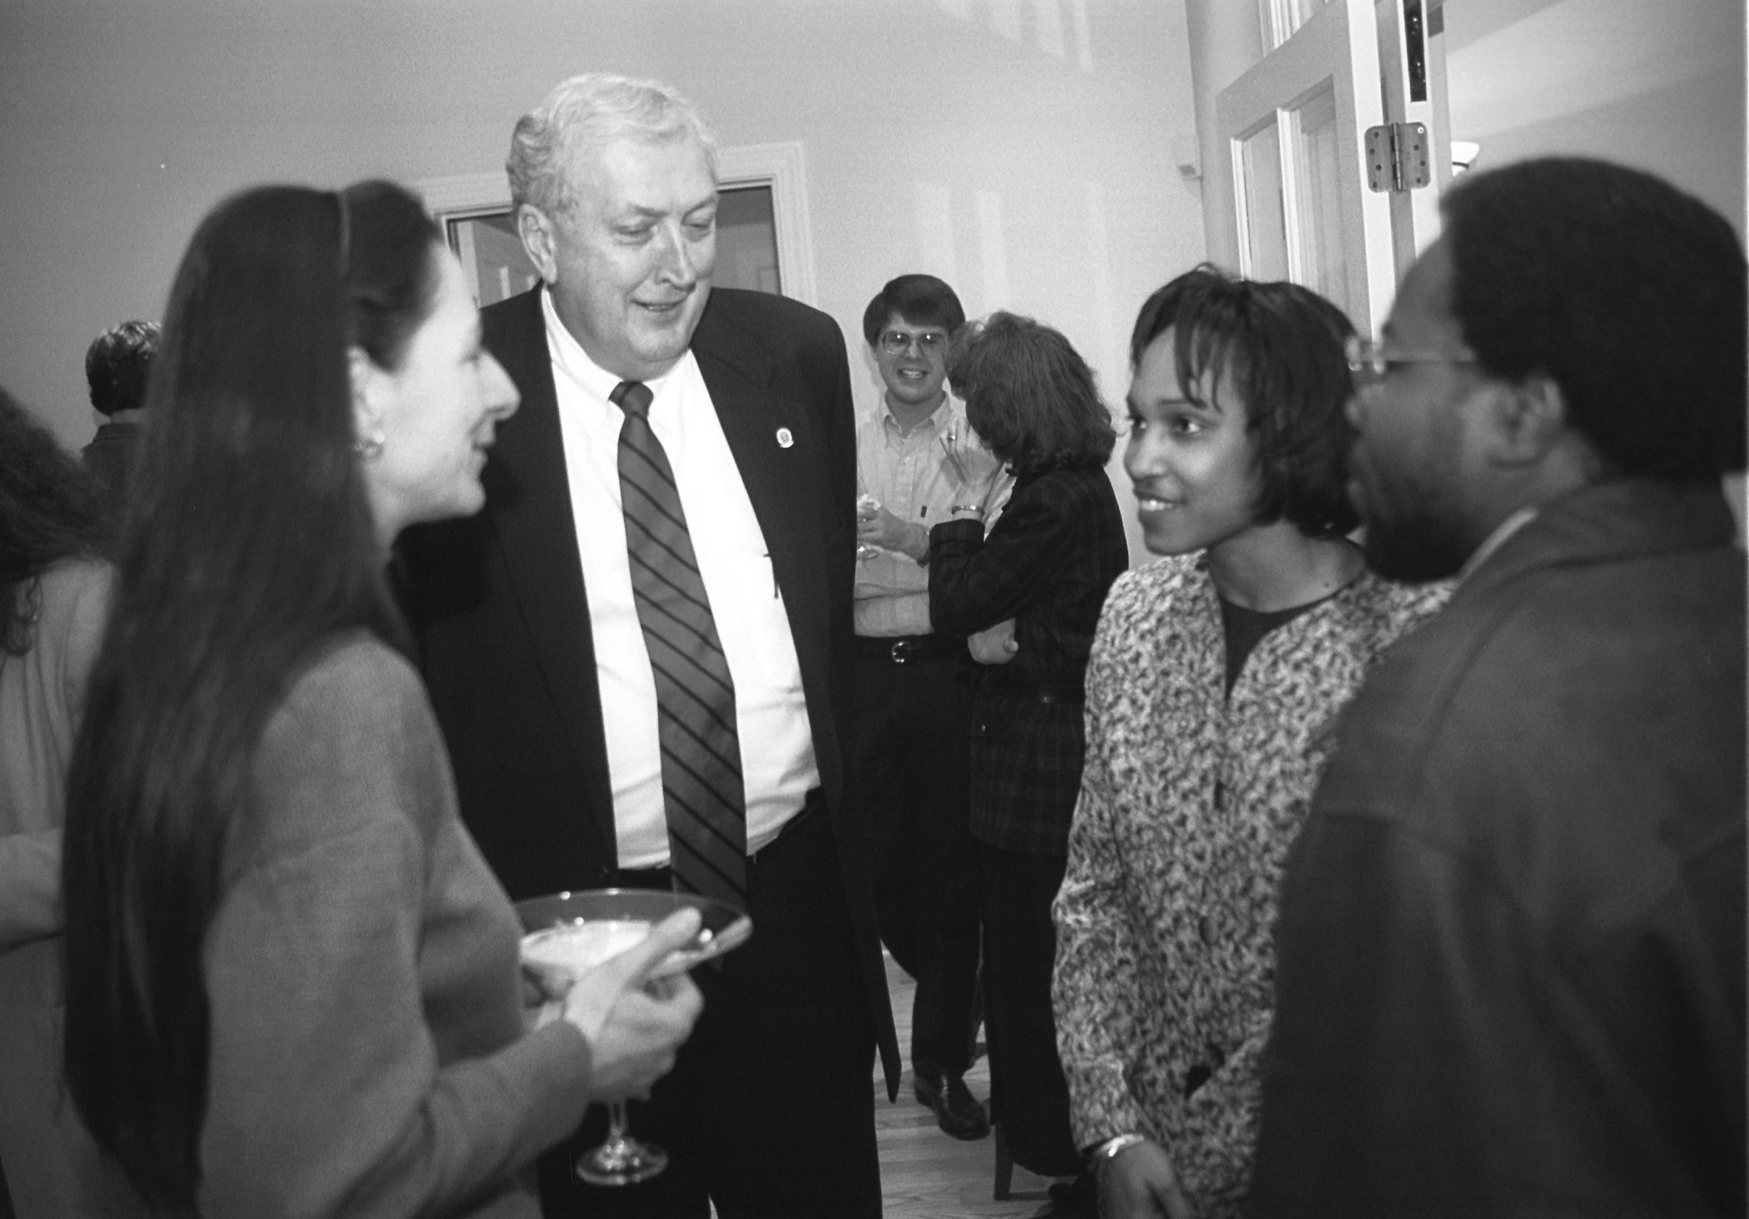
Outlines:
{"label": "man with glasses in dark jacket at right foreground", "polygon": [[1247,1216],[1742,1214],[1746,264],[1621,166],[1469,175],[1354,345],[1382,575],[1280,890]]}

